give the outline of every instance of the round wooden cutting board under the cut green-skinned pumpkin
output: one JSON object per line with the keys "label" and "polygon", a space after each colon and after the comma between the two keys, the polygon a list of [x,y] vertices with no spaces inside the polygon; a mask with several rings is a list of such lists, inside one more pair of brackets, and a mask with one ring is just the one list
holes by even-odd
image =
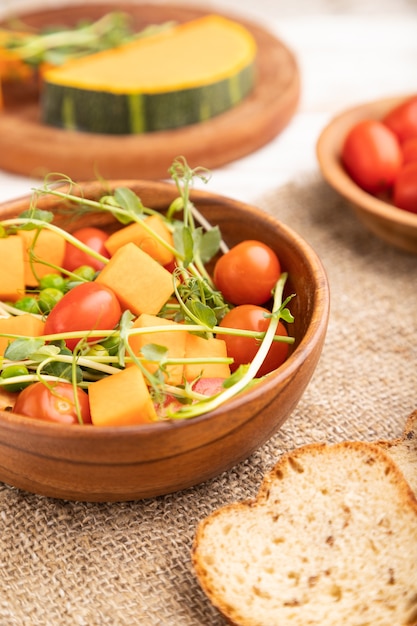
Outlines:
{"label": "round wooden cutting board under the cut green-skinned pumpkin", "polygon": [[[194,7],[101,3],[68,5],[20,15],[31,26],[72,25],[98,19],[112,10],[126,11],[136,30],[165,21],[185,22],[210,13]],[[223,14],[224,15],[224,14]],[[191,167],[220,167],[259,149],[291,120],[300,96],[296,58],[260,26],[235,16],[258,45],[257,81],[245,101],[209,121],[181,129],[142,135],[103,135],[61,130],[40,121],[36,97],[6,102],[0,112],[0,169],[43,178],[59,172],[73,180],[167,178],[177,156]]]}

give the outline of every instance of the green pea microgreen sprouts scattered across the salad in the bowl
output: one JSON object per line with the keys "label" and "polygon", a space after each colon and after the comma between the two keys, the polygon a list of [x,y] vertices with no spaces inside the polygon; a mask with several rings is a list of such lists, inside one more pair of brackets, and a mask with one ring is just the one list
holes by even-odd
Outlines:
{"label": "green pea microgreen sprouts scattered across the salad in the bowl", "polygon": [[[144,206],[140,198],[128,188],[119,187],[112,193],[107,191],[99,199],[92,200],[84,198],[82,193],[77,193],[73,188],[75,183],[70,179],[61,177],[57,183],[56,180],[53,181],[51,177],[48,177],[44,187],[34,191],[29,210],[17,218],[4,220],[0,224],[0,228],[3,229],[6,236],[20,228],[36,229],[37,234],[43,228],[50,229],[59,233],[72,245],[106,264],[109,259],[53,224],[53,213],[39,209],[37,199],[40,196],[51,194],[62,200],[58,211],[65,212],[70,209],[72,214],[76,214],[77,209],[80,212],[107,212],[122,224],[140,222],[157,239],[159,236],[147,226],[145,218],[148,215],[160,215],[173,235],[173,245],[160,237],[159,241],[174,254],[177,267],[173,272],[175,299],[172,302],[168,301],[159,315],[180,321],[181,324],[167,325],[165,323],[146,328],[133,328],[135,316],[126,310],[123,312],[117,327],[107,330],[90,329],[88,331],[62,332],[42,335],[37,338],[2,333],[0,337],[7,337],[11,343],[0,363],[0,373],[6,368],[18,365],[26,368],[28,373],[26,370],[17,372],[19,375],[16,376],[16,380],[13,380],[15,384],[27,384],[38,380],[45,382],[45,384],[52,384],[54,381],[67,381],[74,386],[74,389],[78,386],[88,390],[89,385],[100,378],[120,372],[121,368],[134,363],[143,373],[155,404],[162,403],[163,405],[167,397],[174,397],[183,405],[178,410],[171,407],[160,416],[160,419],[188,419],[214,410],[243,389],[255,384],[259,380],[256,378],[259,367],[263,363],[272,342],[294,342],[292,337],[275,334],[280,319],[286,322],[293,321],[292,315],[287,309],[287,304],[292,296],[282,302],[283,289],[287,279],[286,274],[281,275],[275,286],[273,310],[268,316],[269,326],[265,332],[219,325],[230,305],[225,302],[222,293],[215,288],[206,270],[206,264],[219,250],[227,251],[227,246],[221,239],[219,228],[212,227],[190,200],[190,187],[194,178],[198,176],[206,181],[208,179],[207,170],[203,168],[191,170],[185,159],[179,158],[174,161],[170,173],[178,190],[178,197],[173,200],[165,216],[161,215],[159,211]],[[66,183],[65,191],[62,188],[62,182]],[[103,189],[105,189],[104,186]],[[177,217],[178,213],[181,213],[181,218]],[[34,244],[32,246],[34,247]],[[36,257],[33,250],[31,259],[33,263],[42,262],[42,259]],[[95,277],[91,272],[78,270],[68,272],[57,267],[51,267],[51,269],[57,271],[61,278],[58,278],[57,282],[48,277],[42,279],[39,281],[39,291],[54,289],[59,283],[60,288],[65,291],[71,289],[72,284],[94,280]],[[30,297],[33,296],[32,290],[28,293]],[[24,311],[19,311],[17,304],[17,302],[0,303],[0,312],[4,316],[23,314]],[[47,308],[42,310],[41,307],[40,313],[44,313],[44,315],[39,317],[47,315]],[[168,368],[177,364],[198,365],[201,363],[202,369],[204,369],[204,364],[209,363],[230,365],[232,359],[228,357],[173,358],[165,346],[158,344],[158,337],[160,337],[160,333],[164,332],[191,332],[205,337],[221,337],[225,334],[251,337],[258,340],[259,349],[250,364],[241,366],[224,381],[221,392],[207,397],[194,390],[194,383],[198,377],[194,381],[183,380],[178,387],[167,383]],[[146,335],[153,333],[155,342],[142,346],[140,355],[137,355],[132,350],[129,340],[133,335],[145,333]],[[78,343],[71,351],[66,347],[66,342],[73,339],[76,339]],[[155,365],[152,371],[149,371],[149,363]],[[9,370],[9,374],[11,373],[13,370]],[[0,375],[1,386],[12,384],[6,380],[7,378],[7,375]]]}

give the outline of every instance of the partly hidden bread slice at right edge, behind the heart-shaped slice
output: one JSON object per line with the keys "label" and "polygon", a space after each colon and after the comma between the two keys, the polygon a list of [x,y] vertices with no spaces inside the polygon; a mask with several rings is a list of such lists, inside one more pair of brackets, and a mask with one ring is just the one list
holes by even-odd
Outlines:
{"label": "partly hidden bread slice at right edge, behind the heart-shaped slice", "polygon": [[417,411],[412,413],[400,439],[378,441],[393,458],[417,497]]}

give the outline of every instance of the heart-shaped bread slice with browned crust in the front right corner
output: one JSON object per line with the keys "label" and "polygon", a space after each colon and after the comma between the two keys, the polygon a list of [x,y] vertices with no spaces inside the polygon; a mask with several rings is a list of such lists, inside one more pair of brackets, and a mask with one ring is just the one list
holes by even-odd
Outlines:
{"label": "heart-shaped bread slice with browned crust in the front right corner", "polygon": [[417,500],[375,444],[285,455],[256,500],[200,523],[192,561],[238,626],[417,624]]}

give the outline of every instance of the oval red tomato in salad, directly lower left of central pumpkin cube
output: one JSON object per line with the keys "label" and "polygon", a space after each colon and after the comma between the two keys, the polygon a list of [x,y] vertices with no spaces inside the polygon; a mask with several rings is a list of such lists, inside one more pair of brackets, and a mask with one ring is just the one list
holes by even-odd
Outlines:
{"label": "oval red tomato in salad, directly lower left of central pumpkin cube", "polygon": [[[54,306],[46,318],[44,334],[111,330],[121,315],[119,301],[111,289],[94,282],[82,283],[68,291]],[[67,339],[65,343],[73,350],[78,342],[79,339]]]}

